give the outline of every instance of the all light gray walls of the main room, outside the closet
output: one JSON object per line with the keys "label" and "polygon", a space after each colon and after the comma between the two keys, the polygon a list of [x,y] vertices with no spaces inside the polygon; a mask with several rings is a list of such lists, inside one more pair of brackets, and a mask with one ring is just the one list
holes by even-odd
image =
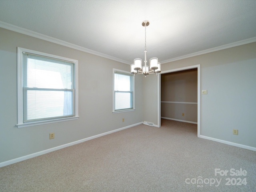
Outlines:
{"label": "all light gray walls of the main room, outside the closet", "polygon": [[[78,60],[78,120],[17,128],[17,47]],[[87,71],[89,64],[96,73]],[[162,64],[162,71],[198,64],[201,90],[208,90],[200,100],[201,135],[256,147],[256,43]],[[113,68],[130,70],[127,64],[0,28],[0,162],[142,121],[158,124],[156,75],[136,76],[135,111],[112,114]],[[52,140],[50,132],[55,132]]]}

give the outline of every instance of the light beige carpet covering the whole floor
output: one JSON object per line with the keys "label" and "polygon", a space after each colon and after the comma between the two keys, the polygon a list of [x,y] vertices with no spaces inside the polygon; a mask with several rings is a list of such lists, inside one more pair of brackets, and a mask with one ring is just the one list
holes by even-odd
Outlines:
{"label": "light beige carpet covering the whole floor", "polygon": [[0,191],[256,192],[256,152],[198,138],[196,127],[162,119],[161,128],[141,124],[5,166]]}

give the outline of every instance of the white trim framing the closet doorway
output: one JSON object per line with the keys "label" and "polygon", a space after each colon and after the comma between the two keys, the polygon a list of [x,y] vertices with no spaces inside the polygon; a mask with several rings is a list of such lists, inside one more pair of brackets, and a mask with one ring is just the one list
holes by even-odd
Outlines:
{"label": "white trim framing the closet doorway", "polygon": [[161,127],[161,74],[197,68],[197,136],[200,137],[200,64],[163,71],[158,75],[158,126]]}

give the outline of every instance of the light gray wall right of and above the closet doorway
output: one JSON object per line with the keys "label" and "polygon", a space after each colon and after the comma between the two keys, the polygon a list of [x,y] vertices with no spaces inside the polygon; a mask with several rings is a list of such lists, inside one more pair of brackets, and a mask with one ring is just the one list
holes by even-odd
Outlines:
{"label": "light gray wall right of and above the closet doorway", "polygon": [[198,64],[201,90],[208,90],[200,100],[200,134],[256,147],[256,42],[162,64],[161,69]]}

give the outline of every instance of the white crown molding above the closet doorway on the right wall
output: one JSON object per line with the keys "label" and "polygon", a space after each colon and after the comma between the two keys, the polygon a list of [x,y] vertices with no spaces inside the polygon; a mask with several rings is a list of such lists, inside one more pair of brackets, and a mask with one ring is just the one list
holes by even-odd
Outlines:
{"label": "white crown molding above the closet doorway on the right wall", "polygon": [[222,46],[218,46],[218,47],[214,47],[214,48],[210,48],[210,49],[206,49],[206,50],[202,50],[202,51],[198,51],[198,52],[194,52],[194,53],[183,55],[180,57],[164,60],[164,61],[161,61],[161,64],[169,63],[169,62],[177,61],[177,60],[181,60],[181,59],[186,59],[189,57],[194,57],[194,56],[198,56],[198,55],[202,55],[202,54],[206,54],[206,53],[210,53],[210,52],[214,52],[214,51],[219,51],[219,50],[223,50],[223,49],[227,49],[227,48],[231,48],[231,47],[236,47],[236,46],[240,46],[240,45],[244,45],[244,44],[248,44],[248,43],[253,43],[253,42],[256,42],[256,37],[229,43],[226,45],[222,45]]}

